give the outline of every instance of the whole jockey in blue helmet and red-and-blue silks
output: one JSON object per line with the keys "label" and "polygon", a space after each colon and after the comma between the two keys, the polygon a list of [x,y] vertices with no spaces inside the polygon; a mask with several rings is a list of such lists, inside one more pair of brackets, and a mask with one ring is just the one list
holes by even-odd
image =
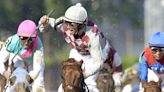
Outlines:
{"label": "whole jockey in blue helmet and red-and-blue silks", "polygon": [[[153,75],[153,71],[155,71],[155,74],[158,74],[162,81],[164,81],[164,32],[156,32],[152,35],[149,46],[140,56],[139,63],[141,90],[144,87],[144,84],[150,80],[156,82],[159,80],[159,78],[156,79]],[[164,82],[162,82],[161,88],[164,91]]]}

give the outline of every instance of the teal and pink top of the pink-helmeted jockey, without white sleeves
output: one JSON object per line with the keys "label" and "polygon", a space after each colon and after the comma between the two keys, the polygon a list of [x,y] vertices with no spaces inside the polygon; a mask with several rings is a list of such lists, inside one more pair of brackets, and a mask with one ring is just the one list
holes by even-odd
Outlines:
{"label": "teal and pink top of the pink-helmeted jockey, without white sleeves", "polygon": [[32,62],[33,52],[36,49],[40,49],[42,47],[42,44],[40,42],[40,39],[36,37],[32,46],[27,49],[23,48],[23,45],[19,40],[19,36],[15,34],[7,39],[7,41],[5,42],[5,47],[9,52],[20,55],[21,58],[23,58],[25,61]]}

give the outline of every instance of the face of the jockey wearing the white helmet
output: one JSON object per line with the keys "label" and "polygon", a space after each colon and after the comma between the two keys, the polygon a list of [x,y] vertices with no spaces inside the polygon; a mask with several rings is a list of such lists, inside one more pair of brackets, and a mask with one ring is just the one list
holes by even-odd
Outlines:
{"label": "face of the jockey wearing the white helmet", "polygon": [[65,21],[64,23],[68,26],[68,29],[71,31],[71,35],[77,34],[79,24],[73,23],[73,22],[68,22],[68,21]]}

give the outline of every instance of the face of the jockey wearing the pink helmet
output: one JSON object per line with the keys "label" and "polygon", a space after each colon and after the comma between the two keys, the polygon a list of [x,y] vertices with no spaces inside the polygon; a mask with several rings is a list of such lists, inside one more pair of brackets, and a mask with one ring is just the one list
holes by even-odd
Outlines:
{"label": "face of the jockey wearing the pink helmet", "polygon": [[22,37],[22,36],[19,36],[19,38],[22,42],[23,47],[28,48],[33,44],[36,37]]}

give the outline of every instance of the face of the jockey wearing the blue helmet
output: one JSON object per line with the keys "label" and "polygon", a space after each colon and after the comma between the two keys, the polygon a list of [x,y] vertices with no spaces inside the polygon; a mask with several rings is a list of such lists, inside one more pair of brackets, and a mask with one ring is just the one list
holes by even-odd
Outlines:
{"label": "face of the jockey wearing the blue helmet", "polygon": [[150,47],[155,59],[159,60],[164,56],[164,48]]}

